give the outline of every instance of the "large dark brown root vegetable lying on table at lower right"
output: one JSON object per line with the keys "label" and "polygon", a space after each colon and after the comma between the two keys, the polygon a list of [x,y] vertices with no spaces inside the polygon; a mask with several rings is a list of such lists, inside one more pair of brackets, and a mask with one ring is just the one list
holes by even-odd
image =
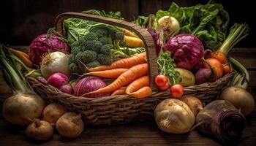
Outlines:
{"label": "large dark brown root vegetable lying on table at lower right", "polygon": [[196,123],[203,134],[214,135],[222,142],[229,143],[241,139],[246,120],[229,101],[216,100],[197,114]]}

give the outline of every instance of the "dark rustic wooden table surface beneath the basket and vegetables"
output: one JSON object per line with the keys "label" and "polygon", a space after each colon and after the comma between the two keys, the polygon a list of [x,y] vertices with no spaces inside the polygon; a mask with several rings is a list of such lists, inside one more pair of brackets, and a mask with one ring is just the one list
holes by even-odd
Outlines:
{"label": "dark rustic wooden table surface beneath the basket and vegetables", "polygon": [[[236,48],[230,55],[241,61],[249,70],[249,92],[256,98],[256,48]],[[1,104],[10,93],[10,88],[0,73]],[[246,119],[243,139],[238,145],[256,145],[256,109]],[[86,127],[83,134],[76,139],[64,139],[55,132],[48,141],[34,142],[26,138],[23,128],[8,125],[0,114],[0,145],[221,145],[221,143],[217,139],[201,135],[196,130],[189,134],[167,134],[160,131],[154,121],[102,128]]]}

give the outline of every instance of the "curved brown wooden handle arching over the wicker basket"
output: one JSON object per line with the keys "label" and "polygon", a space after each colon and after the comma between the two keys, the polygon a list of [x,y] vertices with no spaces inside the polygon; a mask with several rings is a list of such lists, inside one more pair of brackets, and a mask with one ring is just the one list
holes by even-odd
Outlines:
{"label": "curved brown wooden handle arching over the wicker basket", "polygon": [[130,31],[135,32],[135,34],[137,34],[138,37],[140,37],[140,39],[143,40],[144,46],[146,48],[147,61],[148,61],[148,77],[149,77],[151,89],[153,91],[157,90],[157,85],[155,85],[154,83],[154,78],[158,74],[157,54],[155,50],[154,40],[146,28],[142,28],[134,23],[129,23],[124,20],[105,18],[102,16],[89,15],[81,12],[64,12],[58,15],[55,20],[56,31],[60,32],[64,36],[66,36],[66,32],[63,27],[63,21],[64,19],[67,19],[67,18],[81,18],[85,20],[93,20],[99,23],[107,23],[113,26],[127,28]]}

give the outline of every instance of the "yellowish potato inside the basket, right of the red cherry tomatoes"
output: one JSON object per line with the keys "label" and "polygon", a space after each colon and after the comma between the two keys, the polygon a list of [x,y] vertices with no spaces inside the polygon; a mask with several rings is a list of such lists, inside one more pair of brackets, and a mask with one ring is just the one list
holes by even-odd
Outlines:
{"label": "yellowish potato inside the basket, right of the red cherry tomatoes", "polygon": [[175,70],[181,74],[182,80],[179,82],[179,84],[183,85],[184,87],[195,85],[195,75],[192,72],[181,68],[176,68]]}

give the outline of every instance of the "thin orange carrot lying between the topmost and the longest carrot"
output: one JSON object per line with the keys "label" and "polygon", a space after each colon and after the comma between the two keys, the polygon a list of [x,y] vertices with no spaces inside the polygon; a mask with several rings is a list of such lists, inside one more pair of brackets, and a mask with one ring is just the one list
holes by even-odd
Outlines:
{"label": "thin orange carrot lying between the topmost and the longest carrot", "polygon": [[[83,74],[83,76],[93,75],[97,77],[106,77],[106,78],[113,78],[116,79],[120,74],[123,74],[124,72],[127,72],[128,69],[110,69],[105,71],[97,71],[97,72],[88,72],[86,74]],[[83,77],[82,76],[82,77]]]}

